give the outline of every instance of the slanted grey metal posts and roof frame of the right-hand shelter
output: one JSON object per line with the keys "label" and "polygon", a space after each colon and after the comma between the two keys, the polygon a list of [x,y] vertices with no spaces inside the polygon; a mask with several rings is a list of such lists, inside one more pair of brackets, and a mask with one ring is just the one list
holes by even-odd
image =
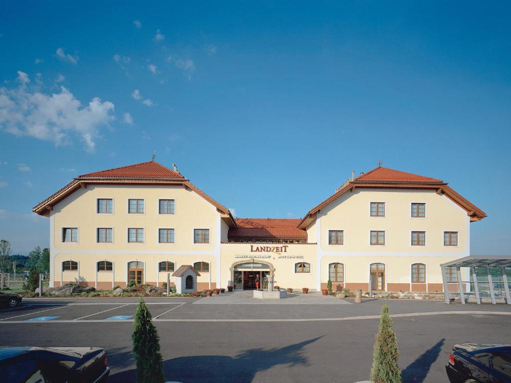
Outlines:
{"label": "slanted grey metal posts and roof frame of the right-hand shelter", "polygon": [[[457,272],[457,282],[459,285],[459,293],[449,293],[446,271],[448,267],[455,267]],[[470,268],[470,280],[463,281],[461,279],[461,271],[460,268]],[[468,257],[463,257],[455,260],[451,260],[446,262],[445,264],[441,264],[440,268],[442,268],[442,281],[444,283],[444,296],[446,303],[450,303],[450,298],[459,294],[461,299],[461,303],[465,304],[465,297],[472,295],[473,293],[463,292],[463,283],[473,283],[474,284],[474,293],[476,297],[477,304],[481,304],[481,296],[479,294],[479,284],[488,285],[488,290],[490,291],[490,297],[492,298],[492,303],[496,303],[496,299],[504,299],[504,297],[496,297],[494,286],[502,285],[504,286],[505,291],[505,300],[507,304],[511,304],[511,296],[509,296],[509,289],[511,288],[511,280],[508,281],[506,268],[511,268],[511,255],[470,255]],[[476,268],[485,268],[486,274],[483,277],[486,277],[487,280],[481,281],[478,280],[478,276],[481,275],[476,274]],[[501,279],[494,281],[492,279],[491,268],[500,268],[501,271]],[[510,278],[511,279],[511,278]]]}

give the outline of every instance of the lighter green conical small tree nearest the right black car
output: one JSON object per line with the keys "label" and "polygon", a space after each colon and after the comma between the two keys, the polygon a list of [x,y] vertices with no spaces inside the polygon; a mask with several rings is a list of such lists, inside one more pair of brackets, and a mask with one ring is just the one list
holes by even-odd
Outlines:
{"label": "lighter green conical small tree nearest the right black car", "polygon": [[401,370],[398,367],[398,340],[392,331],[392,319],[387,305],[381,310],[380,325],[373,350],[371,380],[375,383],[401,383]]}

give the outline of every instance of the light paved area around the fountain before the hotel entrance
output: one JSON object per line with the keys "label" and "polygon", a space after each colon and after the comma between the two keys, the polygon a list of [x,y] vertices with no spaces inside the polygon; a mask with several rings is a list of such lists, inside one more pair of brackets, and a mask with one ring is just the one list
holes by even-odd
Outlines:
{"label": "light paved area around the fountain before the hotel entrance", "polygon": [[194,304],[351,304],[350,302],[324,296],[321,293],[303,294],[288,293],[287,298],[282,299],[257,299],[253,297],[252,291],[235,291],[199,299]]}

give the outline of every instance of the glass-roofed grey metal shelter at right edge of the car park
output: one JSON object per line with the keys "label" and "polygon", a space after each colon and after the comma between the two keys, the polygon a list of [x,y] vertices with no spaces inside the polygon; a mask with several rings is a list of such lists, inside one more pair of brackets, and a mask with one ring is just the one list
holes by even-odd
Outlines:
{"label": "glass-roofed grey metal shelter at right edge of the car park", "polygon": [[[465,298],[475,295],[478,304],[481,297],[491,298],[493,304],[496,299],[505,299],[507,304],[511,304],[511,255],[470,255],[451,260],[440,267],[446,303],[450,303],[451,297],[459,295],[461,303],[465,304]],[[460,268],[470,268],[468,280],[462,280]],[[449,292],[447,283],[456,281],[459,292]]]}

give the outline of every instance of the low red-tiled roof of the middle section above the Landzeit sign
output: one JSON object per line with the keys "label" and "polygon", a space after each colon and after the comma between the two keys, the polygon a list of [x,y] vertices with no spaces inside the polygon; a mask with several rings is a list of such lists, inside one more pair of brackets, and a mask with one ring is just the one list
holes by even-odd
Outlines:
{"label": "low red-tiled roof of the middle section above the Landzeit sign", "polygon": [[237,218],[236,228],[229,229],[229,239],[237,238],[307,238],[307,231],[298,229],[299,219]]}

